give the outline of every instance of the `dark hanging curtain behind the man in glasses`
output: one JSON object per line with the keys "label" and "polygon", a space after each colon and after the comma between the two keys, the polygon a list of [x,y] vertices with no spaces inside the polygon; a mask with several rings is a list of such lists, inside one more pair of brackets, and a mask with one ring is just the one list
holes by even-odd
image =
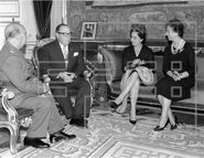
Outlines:
{"label": "dark hanging curtain behind the man in glasses", "polygon": [[33,0],[34,15],[39,33],[37,40],[50,38],[52,0]]}

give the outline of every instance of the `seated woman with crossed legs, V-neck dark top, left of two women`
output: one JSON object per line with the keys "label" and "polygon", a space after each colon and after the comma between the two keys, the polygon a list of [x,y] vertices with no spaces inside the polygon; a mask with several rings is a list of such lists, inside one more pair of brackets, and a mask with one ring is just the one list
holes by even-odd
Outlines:
{"label": "seated woman with crossed legs, V-neck dark top, left of two women", "polygon": [[[131,112],[130,123],[136,124],[136,104],[140,83],[146,85],[153,83],[153,52],[144,45],[146,28],[142,24],[132,24],[130,30],[131,44],[124,50],[122,70],[125,72],[120,88],[120,95],[110,103],[117,113],[125,113],[127,98],[130,94]],[[120,105],[121,104],[121,105]]]}

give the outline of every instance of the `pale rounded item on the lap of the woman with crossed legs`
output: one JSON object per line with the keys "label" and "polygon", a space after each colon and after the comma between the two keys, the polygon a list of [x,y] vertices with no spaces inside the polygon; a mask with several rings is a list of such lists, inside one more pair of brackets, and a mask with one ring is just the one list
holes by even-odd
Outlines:
{"label": "pale rounded item on the lap of the woman with crossed legs", "polygon": [[154,76],[152,70],[146,66],[138,66],[137,69],[138,75],[144,85],[151,85],[154,82]]}

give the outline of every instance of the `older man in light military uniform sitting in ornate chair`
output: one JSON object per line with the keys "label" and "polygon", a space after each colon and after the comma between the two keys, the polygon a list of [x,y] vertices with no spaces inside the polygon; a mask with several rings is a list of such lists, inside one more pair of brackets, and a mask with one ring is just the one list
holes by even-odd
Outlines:
{"label": "older man in light military uniform sitting in ornate chair", "polygon": [[33,108],[32,125],[29,127],[25,146],[47,148],[50,144],[41,138],[50,134],[51,143],[73,139],[75,135],[63,131],[58,110],[53,97],[47,93],[49,86],[33,76],[30,64],[20,51],[26,42],[26,31],[19,23],[10,23],[4,29],[6,44],[0,51],[0,80],[3,86],[14,93],[9,101],[13,107]]}

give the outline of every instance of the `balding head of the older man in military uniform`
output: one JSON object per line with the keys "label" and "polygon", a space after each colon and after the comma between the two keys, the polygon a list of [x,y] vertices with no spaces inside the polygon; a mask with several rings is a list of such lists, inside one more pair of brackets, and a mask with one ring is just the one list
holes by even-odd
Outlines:
{"label": "balding head of the older man in military uniform", "polygon": [[25,44],[26,41],[25,28],[20,23],[12,22],[4,29],[4,38],[11,44],[20,49]]}

